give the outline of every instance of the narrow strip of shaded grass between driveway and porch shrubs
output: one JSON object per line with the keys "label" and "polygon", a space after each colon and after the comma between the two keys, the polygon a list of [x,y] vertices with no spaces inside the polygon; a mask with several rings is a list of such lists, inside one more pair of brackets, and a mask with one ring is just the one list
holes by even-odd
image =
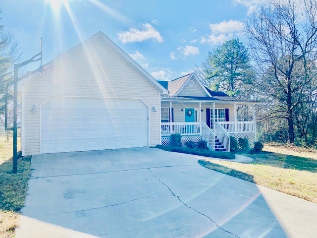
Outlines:
{"label": "narrow strip of shaded grass between driveway and porch shrubs", "polygon": [[211,150],[202,150],[202,149],[191,149],[187,147],[173,147],[173,146],[164,146],[164,145],[157,145],[157,148],[171,151],[171,152],[179,152],[191,155],[200,155],[205,157],[212,157],[212,158],[220,158],[220,159],[234,159],[235,154],[229,152],[218,152],[218,151],[211,151]]}

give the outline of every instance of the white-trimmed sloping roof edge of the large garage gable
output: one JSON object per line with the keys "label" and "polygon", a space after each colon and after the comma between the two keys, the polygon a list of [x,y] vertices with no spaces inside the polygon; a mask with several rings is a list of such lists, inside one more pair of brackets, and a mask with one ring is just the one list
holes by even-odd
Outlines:
{"label": "white-trimmed sloping roof edge of the large garage gable", "polygon": [[[72,47],[71,49],[67,50],[66,52],[62,53],[61,55],[59,55],[58,57],[54,58],[53,60],[49,61],[48,63],[43,65],[43,68],[48,68],[49,65],[51,65],[51,63],[63,56],[65,53],[78,48],[78,47],[82,47],[83,45],[89,43],[89,41],[91,41],[92,39],[95,39],[97,37],[101,37],[103,40],[106,41],[106,43],[108,43],[112,48],[114,48],[114,50],[116,50],[125,60],[127,60],[127,62],[130,63],[130,65],[136,70],[138,71],[145,79],[147,79],[150,83],[153,84],[154,87],[156,87],[161,94],[167,94],[168,91],[166,90],[166,88],[164,88],[161,84],[159,84],[159,82],[151,75],[149,74],[143,67],[141,67],[136,61],[134,61],[128,54],[126,54],[120,47],[118,47],[113,41],[111,41],[103,32],[99,31],[96,34],[90,36],[88,39],[84,40],[83,42],[77,44],[76,46]],[[36,70],[34,70],[36,71]],[[23,80],[21,80],[19,82],[19,84],[23,84],[24,82],[34,78],[35,75],[39,74],[38,73],[34,73],[32,75],[26,75],[26,76],[21,76],[20,78]]]}

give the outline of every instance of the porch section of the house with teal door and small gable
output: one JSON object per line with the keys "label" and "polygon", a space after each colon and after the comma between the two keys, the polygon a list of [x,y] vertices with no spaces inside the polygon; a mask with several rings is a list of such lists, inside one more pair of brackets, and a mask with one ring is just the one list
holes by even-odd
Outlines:
{"label": "porch section of the house with teal door and small gable", "polygon": [[[162,144],[170,143],[170,135],[179,133],[182,142],[205,140],[211,150],[230,151],[229,136],[256,141],[254,105],[223,92],[205,87],[195,73],[172,81],[158,81],[168,94],[161,96]],[[252,120],[238,121],[238,107],[253,106]]]}

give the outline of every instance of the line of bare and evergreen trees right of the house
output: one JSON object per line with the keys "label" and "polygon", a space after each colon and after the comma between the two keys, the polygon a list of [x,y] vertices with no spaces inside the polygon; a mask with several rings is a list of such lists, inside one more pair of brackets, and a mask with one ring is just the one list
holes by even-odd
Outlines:
{"label": "line of bare and evergreen trees right of the house", "polygon": [[[258,139],[317,147],[317,0],[269,0],[196,71],[205,85],[257,106]],[[240,108],[243,112],[245,109]]]}

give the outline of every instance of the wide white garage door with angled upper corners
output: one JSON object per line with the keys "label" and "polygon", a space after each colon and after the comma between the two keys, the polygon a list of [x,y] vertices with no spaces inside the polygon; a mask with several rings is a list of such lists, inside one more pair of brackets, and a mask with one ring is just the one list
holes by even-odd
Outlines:
{"label": "wide white garage door with angled upper corners", "polygon": [[42,153],[148,146],[148,108],[138,99],[52,97],[41,107]]}

